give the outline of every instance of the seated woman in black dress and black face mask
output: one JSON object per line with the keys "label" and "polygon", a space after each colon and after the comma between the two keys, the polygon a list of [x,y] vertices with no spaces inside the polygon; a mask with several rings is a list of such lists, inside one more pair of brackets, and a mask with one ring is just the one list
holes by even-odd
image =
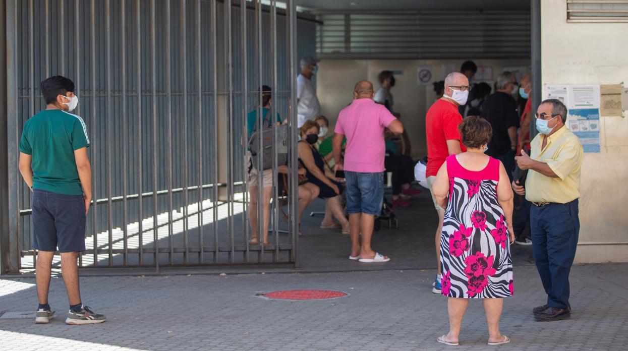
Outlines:
{"label": "seated woman in black dress and black face mask", "polygon": [[[301,126],[299,131],[301,133],[301,141],[298,143],[298,157],[299,163],[307,170],[308,183],[306,185],[317,186],[320,189],[318,197],[327,200],[325,207],[340,222],[342,233],[349,234],[349,220],[345,217],[345,212],[340,205],[342,184],[336,181],[332,171],[325,169],[323,157],[314,148],[314,144],[318,141],[320,127],[317,122],[305,121],[305,124]],[[321,226],[325,227],[324,225]]]}

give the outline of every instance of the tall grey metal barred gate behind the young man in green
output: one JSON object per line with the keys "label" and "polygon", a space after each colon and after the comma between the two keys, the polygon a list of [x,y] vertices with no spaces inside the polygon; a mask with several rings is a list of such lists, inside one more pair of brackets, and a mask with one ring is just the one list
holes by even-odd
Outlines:
{"label": "tall grey metal barred gate behind the young man in green", "polygon": [[264,3],[7,1],[8,271],[35,266],[18,144],[45,105],[39,82],[56,74],[75,82],[92,143],[80,266],[298,264],[296,170],[289,196],[274,188],[272,245],[249,244],[246,115],[271,86],[271,116],[288,119],[296,150],[296,58],[315,53],[315,21],[295,1]]}

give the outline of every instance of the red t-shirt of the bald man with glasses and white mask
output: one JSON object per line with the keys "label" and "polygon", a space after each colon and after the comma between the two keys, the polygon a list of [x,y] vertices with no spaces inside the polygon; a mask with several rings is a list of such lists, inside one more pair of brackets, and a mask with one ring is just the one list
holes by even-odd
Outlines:
{"label": "red t-shirt of the bald man with glasses and white mask", "polygon": [[[431,105],[425,116],[425,133],[428,141],[428,165],[425,168],[425,176],[435,176],[440,166],[449,156],[447,149],[448,140],[460,141],[458,124],[462,122],[462,116],[458,107],[445,99],[438,99]],[[460,149],[467,151],[460,142]]]}

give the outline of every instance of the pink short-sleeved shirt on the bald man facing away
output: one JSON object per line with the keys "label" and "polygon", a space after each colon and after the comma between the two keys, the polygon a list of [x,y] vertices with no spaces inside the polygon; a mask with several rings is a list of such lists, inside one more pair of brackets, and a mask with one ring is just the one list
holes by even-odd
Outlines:
{"label": "pink short-sleeved shirt on the bald man facing away", "polygon": [[395,120],[384,105],[355,99],[338,114],[335,132],[347,137],[345,171],[379,173],[385,170],[384,129]]}

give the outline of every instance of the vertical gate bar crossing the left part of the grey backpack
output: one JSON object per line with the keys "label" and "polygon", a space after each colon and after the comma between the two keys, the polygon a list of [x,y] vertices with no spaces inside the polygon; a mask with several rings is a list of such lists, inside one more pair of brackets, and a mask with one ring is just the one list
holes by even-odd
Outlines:
{"label": "vertical gate bar crossing the left part of the grey backpack", "polygon": [[[261,0],[257,0],[255,2],[255,15],[256,15],[256,53],[257,53],[257,130],[261,131],[264,127],[264,109],[263,109],[263,52],[262,52],[262,4]],[[272,121],[272,119],[271,119]],[[259,139],[259,153],[257,154],[257,165],[258,168],[261,165],[264,165],[264,153],[262,150],[264,149],[263,138]],[[257,171],[257,240],[260,243],[261,249],[259,254],[257,255],[258,262],[264,262],[264,236],[268,235],[268,233],[264,232],[264,171]]]}

